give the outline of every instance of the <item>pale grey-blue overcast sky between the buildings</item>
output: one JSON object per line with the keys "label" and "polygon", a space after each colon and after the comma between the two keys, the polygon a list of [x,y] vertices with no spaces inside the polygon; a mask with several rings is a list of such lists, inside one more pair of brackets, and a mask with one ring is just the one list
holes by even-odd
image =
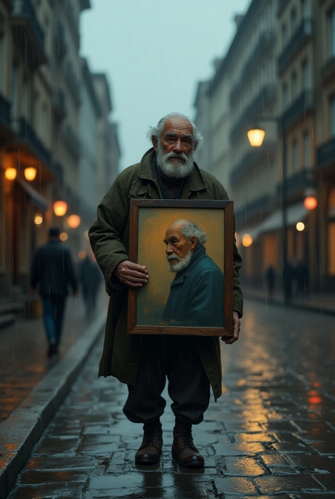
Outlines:
{"label": "pale grey-blue overcast sky between the buildings", "polygon": [[[119,123],[121,168],[149,149],[149,125],[179,111],[194,118],[197,83],[211,76],[250,0],[91,0],[81,15],[81,55],[105,72]],[[205,165],[202,165],[205,167]]]}

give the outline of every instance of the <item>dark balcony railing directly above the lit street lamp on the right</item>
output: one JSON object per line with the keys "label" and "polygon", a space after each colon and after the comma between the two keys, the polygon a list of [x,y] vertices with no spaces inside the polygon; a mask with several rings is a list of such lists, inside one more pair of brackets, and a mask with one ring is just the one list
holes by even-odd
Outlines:
{"label": "dark balcony railing directly above the lit street lamp on the right", "polygon": [[230,140],[233,141],[236,137],[245,130],[247,122],[253,118],[261,118],[264,108],[274,102],[276,98],[276,86],[265,85],[257,94],[255,99],[249,104],[245,111],[241,114],[235,125],[230,131]]}

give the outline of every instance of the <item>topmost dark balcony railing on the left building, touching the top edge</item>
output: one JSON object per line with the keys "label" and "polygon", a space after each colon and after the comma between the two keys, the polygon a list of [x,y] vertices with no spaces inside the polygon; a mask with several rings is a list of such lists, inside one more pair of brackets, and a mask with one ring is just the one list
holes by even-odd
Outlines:
{"label": "topmost dark balcony railing on the left building, touching the top edge", "polygon": [[[13,5],[11,22],[15,27],[14,34],[17,41],[27,51],[33,65],[47,62],[44,53],[44,31],[37,20],[31,0],[11,0],[11,3]],[[20,36],[20,30],[24,32],[23,37]],[[30,43],[26,42],[26,38]]]}

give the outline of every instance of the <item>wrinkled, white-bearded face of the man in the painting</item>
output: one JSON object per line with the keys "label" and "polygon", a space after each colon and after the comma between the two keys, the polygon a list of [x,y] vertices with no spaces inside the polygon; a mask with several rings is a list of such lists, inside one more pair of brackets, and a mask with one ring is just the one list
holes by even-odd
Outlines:
{"label": "wrinkled, white-bearded face of the man in the painting", "polygon": [[180,226],[172,224],[165,234],[166,254],[168,269],[178,272],[187,267],[196,247],[196,237],[192,236],[189,241],[181,234]]}

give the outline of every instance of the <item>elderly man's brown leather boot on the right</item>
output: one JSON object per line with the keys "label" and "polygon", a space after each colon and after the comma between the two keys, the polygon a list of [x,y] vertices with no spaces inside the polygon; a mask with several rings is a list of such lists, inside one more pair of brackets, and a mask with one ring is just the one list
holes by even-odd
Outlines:
{"label": "elderly man's brown leather boot on the right", "polygon": [[175,422],[173,428],[172,458],[184,468],[202,468],[204,459],[193,444],[192,425]]}

